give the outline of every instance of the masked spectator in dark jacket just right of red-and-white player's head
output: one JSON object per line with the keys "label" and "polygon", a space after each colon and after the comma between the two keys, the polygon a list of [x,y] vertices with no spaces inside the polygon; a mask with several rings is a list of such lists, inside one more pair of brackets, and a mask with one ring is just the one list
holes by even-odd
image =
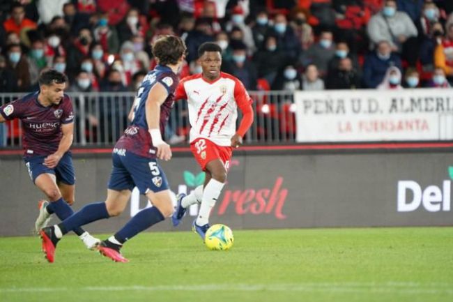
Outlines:
{"label": "masked spectator in dark jacket just right of red-and-white player's head", "polygon": [[247,46],[240,41],[232,43],[233,56],[231,61],[224,61],[224,72],[230,73],[243,82],[245,89],[256,89],[256,68],[247,59]]}

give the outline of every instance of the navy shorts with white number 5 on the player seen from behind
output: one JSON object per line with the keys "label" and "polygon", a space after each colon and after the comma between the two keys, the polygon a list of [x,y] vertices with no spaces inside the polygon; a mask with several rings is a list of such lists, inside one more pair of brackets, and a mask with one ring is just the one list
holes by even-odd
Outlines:
{"label": "navy shorts with white number 5 on the player seen from behind", "polygon": [[155,159],[124,152],[112,153],[113,169],[108,188],[116,191],[131,190],[136,186],[140,194],[148,190],[160,192],[169,188],[167,177]]}

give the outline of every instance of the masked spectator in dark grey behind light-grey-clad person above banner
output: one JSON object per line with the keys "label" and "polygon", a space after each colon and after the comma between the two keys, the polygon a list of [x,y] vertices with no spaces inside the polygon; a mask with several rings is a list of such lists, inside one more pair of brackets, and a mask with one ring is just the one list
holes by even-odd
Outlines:
{"label": "masked spectator in dark grey behind light-grey-clad person above banner", "polygon": [[318,67],[321,77],[328,73],[328,63],[335,56],[335,44],[333,43],[332,31],[323,30],[318,43],[309,47],[307,52],[300,57],[302,66],[314,64]]}

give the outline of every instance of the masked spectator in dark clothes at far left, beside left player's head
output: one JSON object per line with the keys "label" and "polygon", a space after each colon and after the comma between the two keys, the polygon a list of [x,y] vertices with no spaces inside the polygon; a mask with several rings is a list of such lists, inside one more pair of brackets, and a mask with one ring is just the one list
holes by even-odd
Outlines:
{"label": "masked spectator in dark clothes at far left, beside left player's head", "polygon": [[18,44],[11,44],[7,48],[8,61],[6,66],[17,78],[17,90],[27,91],[30,88],[29,63],[22,56],[22,49]]}

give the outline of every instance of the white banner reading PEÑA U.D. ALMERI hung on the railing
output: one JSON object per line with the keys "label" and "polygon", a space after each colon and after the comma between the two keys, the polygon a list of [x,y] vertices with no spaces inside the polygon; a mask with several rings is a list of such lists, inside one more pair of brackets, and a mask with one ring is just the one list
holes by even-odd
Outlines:
{"label": "white banner reading PE\u00d1A U.D. ALMERI hung on the railing", "polygon": [[453,89],[295,92],[298,142],[453,139]]}

